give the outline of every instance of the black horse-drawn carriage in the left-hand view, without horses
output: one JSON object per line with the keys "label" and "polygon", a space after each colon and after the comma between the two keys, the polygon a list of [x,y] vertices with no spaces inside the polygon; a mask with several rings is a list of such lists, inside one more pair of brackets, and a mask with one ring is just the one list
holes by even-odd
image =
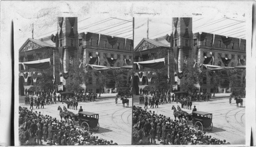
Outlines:
{"label": "black horse-drawn carriage in the left-hand view, without horses", "polygon": [[74,125],[80,126],[84,130],[99,130],[99,114],[93,112],[82,111],[74,115]]}

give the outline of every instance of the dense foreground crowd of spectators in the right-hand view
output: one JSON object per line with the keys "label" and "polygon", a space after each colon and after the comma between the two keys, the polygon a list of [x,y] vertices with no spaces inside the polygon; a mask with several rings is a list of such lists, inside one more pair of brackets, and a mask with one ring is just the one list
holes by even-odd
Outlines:
{"label": "dense foreground crowd of spectators in the right-hand view", "polygon": [[156,144],[166,145],[213,145],[230,144],[226,140],[207,135],[206,132],[195,130],[187,124],[155,111],[146,111],[142,107],[133,106],[133,143],[134,145]]}

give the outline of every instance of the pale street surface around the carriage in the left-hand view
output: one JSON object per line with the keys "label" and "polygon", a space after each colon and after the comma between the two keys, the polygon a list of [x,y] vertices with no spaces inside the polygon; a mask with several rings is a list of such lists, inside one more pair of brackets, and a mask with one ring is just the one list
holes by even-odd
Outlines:
{"label": "pale street surface around the carriage in the left-hand view", "polygon": [[[24,97],[19,97],[19,105],[25,105]],[[82,106],[83,111],[99,113],[99,131],[93,135],[106,140],[113,140],[118,144],[131,144],[132,142],[132,98],[129,98],[130,107],[123,107],[121,100],[118,99],[118,104],[115,104],[115,98],[98,99],[96,102],[80,102],[78,108]],[[62,103],[46,105],[45,109],[34,109],[41,111],[42,114],[48,114],[52,117],[60,119],[58,106],[63,107]],[[35,107],[34,107],[35,108]],[[71,110],[78,113],[78,110]]]}

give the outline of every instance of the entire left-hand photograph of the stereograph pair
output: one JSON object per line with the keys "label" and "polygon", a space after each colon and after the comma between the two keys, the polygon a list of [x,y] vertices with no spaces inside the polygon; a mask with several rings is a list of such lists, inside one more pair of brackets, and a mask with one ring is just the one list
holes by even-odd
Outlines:
{"label": "entire left-hand photograph of the stereograph pair", "polygon": [[132,17],[47,17],[14,31],[19,145],[131,144]]}

